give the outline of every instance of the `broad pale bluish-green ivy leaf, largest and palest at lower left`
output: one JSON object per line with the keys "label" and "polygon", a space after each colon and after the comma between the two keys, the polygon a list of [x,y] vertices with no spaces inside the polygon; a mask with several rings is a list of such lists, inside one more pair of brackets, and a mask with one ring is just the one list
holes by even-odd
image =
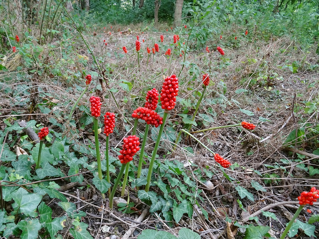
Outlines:
{"label": "broad pale bluish-green ivy leaf, largest and palest at lower left", "polygon": [[42,196],[36,193],[28,193],[24,188],[19,188],[11,193],[11,195],[14,200],[12,207],[15,210],[20,209],[20,212],[26,216],[38,216],[35,211],[41,202]]}

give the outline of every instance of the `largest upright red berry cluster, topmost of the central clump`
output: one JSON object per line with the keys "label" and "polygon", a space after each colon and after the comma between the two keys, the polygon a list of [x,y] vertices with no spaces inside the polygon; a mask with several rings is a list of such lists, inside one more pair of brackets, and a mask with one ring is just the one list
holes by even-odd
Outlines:
{"label": "largest upright red berry cluster, topmost of the central clump", "polygon": [[176,96],[178,94],[178,79],[176,75],[167,77],[162,85],[160,101],[162,109],[172,110],[176,105]]}

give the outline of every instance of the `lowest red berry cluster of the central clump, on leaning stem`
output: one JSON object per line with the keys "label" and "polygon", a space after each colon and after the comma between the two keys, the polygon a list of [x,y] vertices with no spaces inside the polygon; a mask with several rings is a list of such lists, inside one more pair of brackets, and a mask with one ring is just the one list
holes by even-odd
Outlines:
{"label": "lowest red berry cluster of the central clump, on leaning stem", "polygon": [[120,150],[119,160],[121,163],[128,163],[133,160],[133,156],[139,150],[139,138],[135,135],[130,135],[123,139],[123,149]]}

